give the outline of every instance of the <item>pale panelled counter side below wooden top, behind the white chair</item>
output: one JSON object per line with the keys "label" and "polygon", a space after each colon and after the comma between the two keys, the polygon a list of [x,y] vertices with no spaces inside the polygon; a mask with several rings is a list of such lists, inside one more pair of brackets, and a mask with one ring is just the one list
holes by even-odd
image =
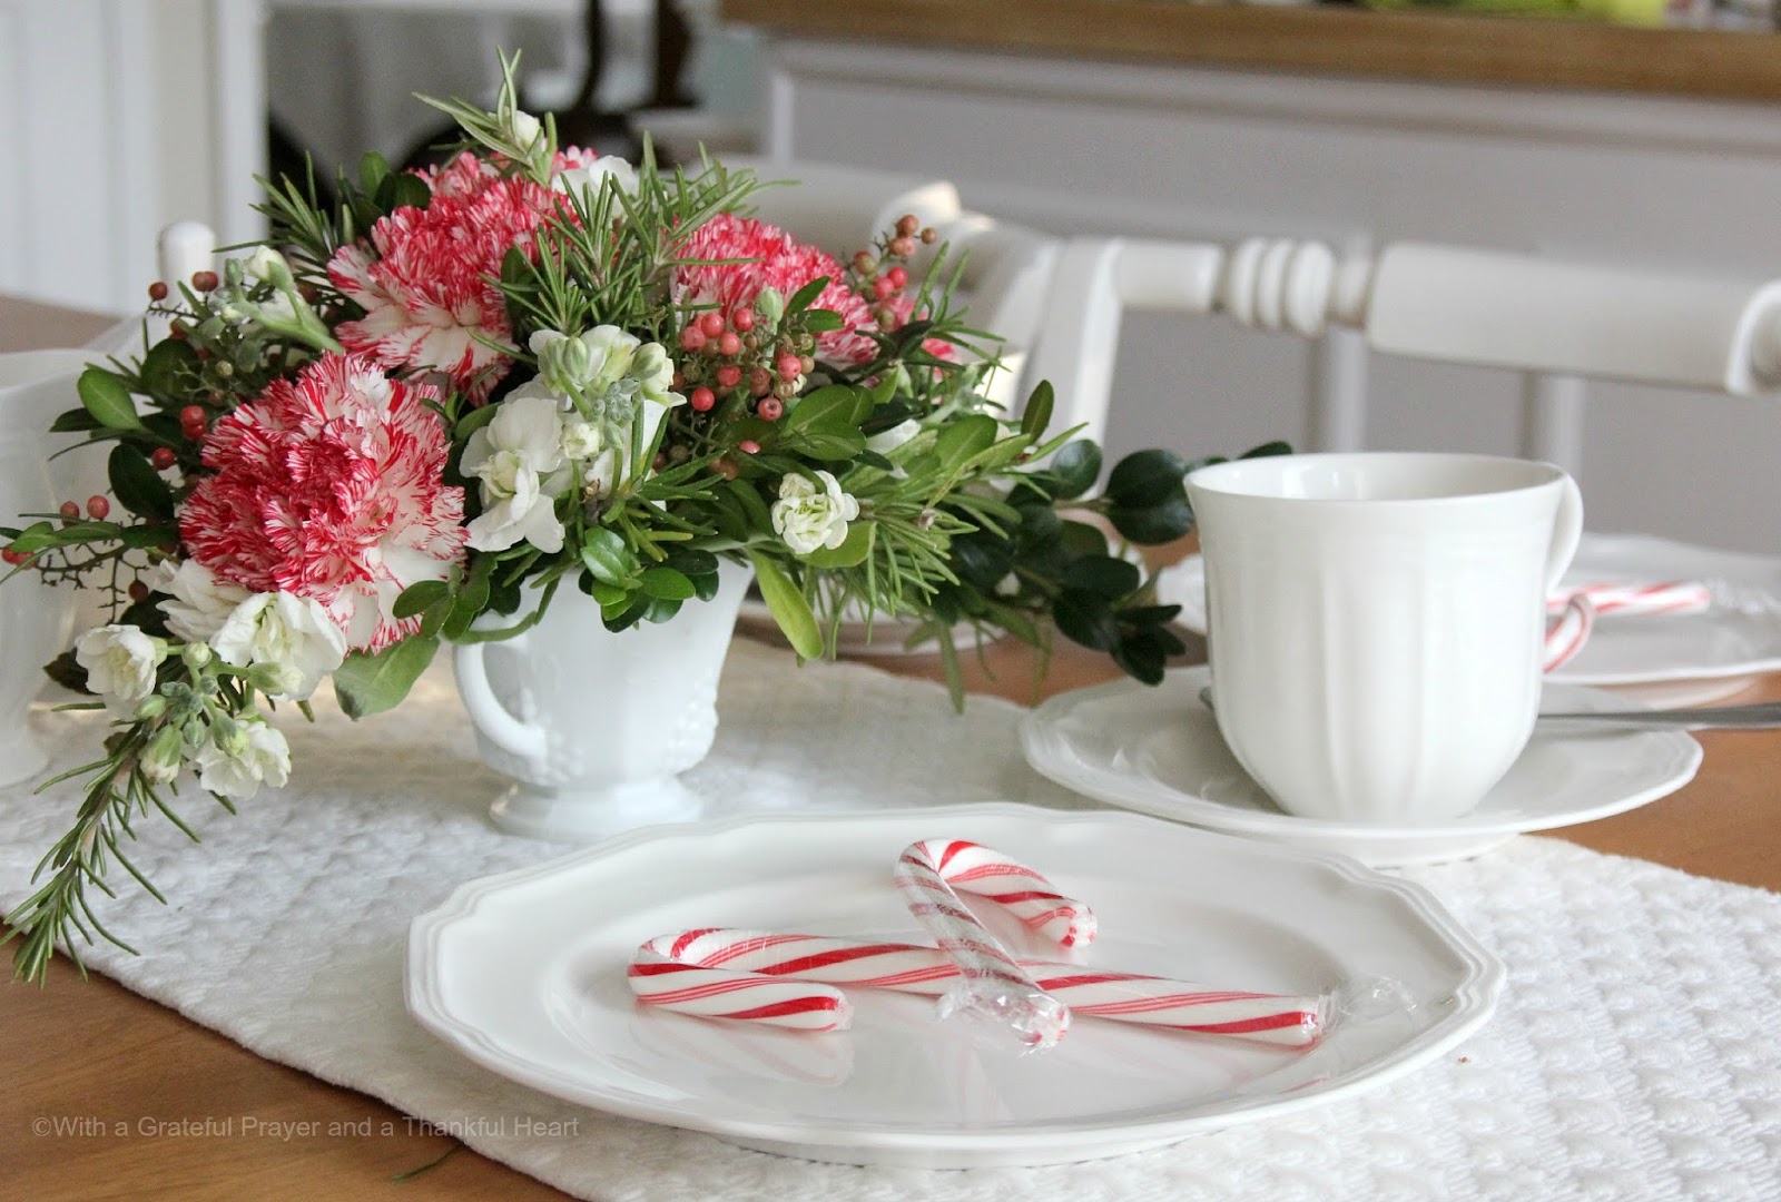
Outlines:
{"label": "pale panelled counter side below wooden top, behind the white chair", "polygon": [[[1660,96],[766,41],[775,157],[903,166],[1060,233],[1402,239],[1781,276],[1781,110]],[[1352,337],[1352,335],[1348,335]],[[1471,449],[1573,459],[1598,531],[1781,550],[1781,408],[1127,321],[1110,445]],[[1329,420],[1318,372],[1354,372]]]}

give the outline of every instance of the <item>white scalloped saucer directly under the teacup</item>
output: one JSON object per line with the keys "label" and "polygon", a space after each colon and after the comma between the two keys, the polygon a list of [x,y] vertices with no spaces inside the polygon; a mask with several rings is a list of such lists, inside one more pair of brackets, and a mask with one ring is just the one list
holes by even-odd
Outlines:
{"label": "white scalloped saucer directly under the teacup", "polygon": [[[1352,855],[1375,867],[1478,855],[1528,830],[1589,823],[1676,792],[1701,767],[1683,730],[1537,732],[1471,814],[1419,826],[1295,817],[1236,762],[1200,702],[1211,670],[1158,687],[1117,680],[1051,698],[1021,727],[1028,762],[1067,789],[1231,835]],[[1624,709],[1598,689],[1548,684],[1546,709]]]}

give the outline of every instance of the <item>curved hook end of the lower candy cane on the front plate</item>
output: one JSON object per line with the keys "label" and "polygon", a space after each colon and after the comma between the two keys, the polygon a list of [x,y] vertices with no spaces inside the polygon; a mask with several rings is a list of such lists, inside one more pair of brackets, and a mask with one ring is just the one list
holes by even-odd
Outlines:
{"label": "curved hook end of the lower candy cane on the front plate", "polygon": [[689,953],[707,933],[657,935],[638,947],[625,972],[638,1001],[703,1019],[764,1022],[796,1031],[844,1031],[853,1022],[853,1006],[832,985],[700,963]]}

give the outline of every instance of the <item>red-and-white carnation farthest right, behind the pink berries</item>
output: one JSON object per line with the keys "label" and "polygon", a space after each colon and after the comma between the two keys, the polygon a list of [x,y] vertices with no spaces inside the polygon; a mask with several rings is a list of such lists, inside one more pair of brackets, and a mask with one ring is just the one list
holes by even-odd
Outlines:
{"label": "red-and-white carnation farthest right, behind the pink berries", "polygon": [[[720,305],[730,313],[750,308],[762,288],[777,288],[789,297],[812,280],[828,276],[810,308],[826,308],[841,317],[841,329],[816,335],[816,356],[851,367],[878,354],[871,335],[878,331],[866,299],[848,287],[848,272],[834,255],[805,246],[778,226],[755,217],[718,214],[687,237],[680,258],[702,260],[675,269],[673,303]],[[734,258],[750,262],[718,264]]]}

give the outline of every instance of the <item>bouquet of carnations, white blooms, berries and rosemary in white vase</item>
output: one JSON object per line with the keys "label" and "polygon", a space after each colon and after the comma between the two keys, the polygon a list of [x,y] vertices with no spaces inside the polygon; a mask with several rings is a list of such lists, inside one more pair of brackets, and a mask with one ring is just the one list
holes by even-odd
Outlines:
{"label": "bouquet of carnations, white blooms, berries and rosemary in white vase", "polygon": [[4,557],[109,593],[48,671],[112,727],[7,915],[18,976],[119,942],[89,887],[153,892],[125,846],[139,816],[187,830],[182,776],[230,808],[285,784],[274,707],[331,678],[349,716],[390,709],[442,641],[513,636],[559,589],[611,630],[671,621],[728,557],[798,654],[842,609],[901,616],[955,696],[962,621],[1054,625],[1149,682],[1183,650],[1104,529],[1184,534],[1190,465],[1140,452],[1086,497],[1101,452],[1047,436],[1045,386],[1019,417],[985,401],[996,344],[953,312],[944,248],[912,276],[931,230],[835,260],[750,217],[748,173],[557,146],[506,66],[492,112],[436,105],[465,132],[445,166],[370,155],[331,205],[271,185],[265,246],[151,285],[166,337],[87,369],[55,422],[110,445],[112,497],[5,531]]}

